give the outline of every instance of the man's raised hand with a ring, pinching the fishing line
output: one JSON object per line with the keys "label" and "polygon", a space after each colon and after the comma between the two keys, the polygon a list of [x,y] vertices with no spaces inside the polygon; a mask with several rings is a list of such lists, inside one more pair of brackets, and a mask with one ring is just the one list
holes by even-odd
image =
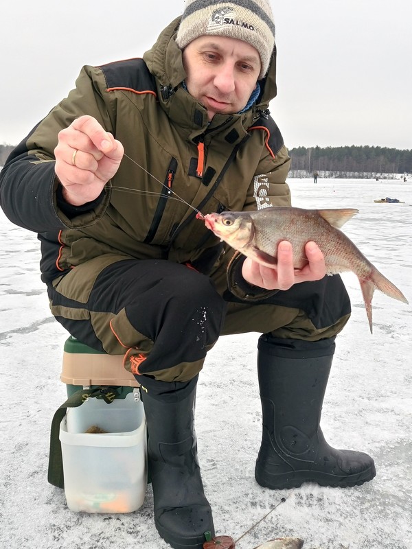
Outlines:
{"label": "man's raised hand with a ring, pinching the fishing line", "polygon": [[63,197],[73,206],[81,206],[100,196],[104,185],[117,172],[124,148],[91,116],[76,118],[58,134],[56,176]]}

